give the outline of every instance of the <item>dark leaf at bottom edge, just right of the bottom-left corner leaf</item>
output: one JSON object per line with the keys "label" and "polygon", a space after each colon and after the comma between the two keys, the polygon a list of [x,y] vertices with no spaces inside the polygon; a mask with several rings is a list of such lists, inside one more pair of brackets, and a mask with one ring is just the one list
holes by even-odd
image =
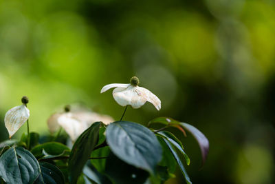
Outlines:
{"label": "dark leaf at bottom edge, just right of the bottom-left corner leaf", "polygon": [[65,178],[61,170],[55,165],[47,162],[39,162],[41,168],[41,174],[36,179],[35,184],[39,183],[51,183],[51,184],[64,184]]}

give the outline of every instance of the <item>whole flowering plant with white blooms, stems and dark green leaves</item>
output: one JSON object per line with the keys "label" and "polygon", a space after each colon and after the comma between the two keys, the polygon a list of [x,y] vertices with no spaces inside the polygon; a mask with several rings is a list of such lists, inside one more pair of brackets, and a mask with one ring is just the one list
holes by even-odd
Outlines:
{"label": "whole flowering plant with white blooms, stems and dark green leaves", "polygon": [[[140,108],[148,101],[160,110],[157,96],[138,85],[134,76],[129,84],[105,85],[101,92],[115,88],[113,98],[126,108]],[[114,121],[111,116],[73,110],[67,105],[64,112],[48,119],[51,134],[40,137],[29,130],[28,98],[23,96],[21,101],[22,105],[5,114],[10,139],[0,143],[0,177],[4,183],[157,184],[175,177],[177,165],[186,183],[191,183],[184,166],[190,164],[190,159],[181,141],[166,130],[168,127],[195,137],[203,163],[208,154],[208,139],[196,127],[169,117],[153,119],[147,127],[123,121],[126,108],[120,121]],[[27,134],[20,140],[11,139],[25,122]],[[164,126],[154,130],[151,125],[155,123]]]}

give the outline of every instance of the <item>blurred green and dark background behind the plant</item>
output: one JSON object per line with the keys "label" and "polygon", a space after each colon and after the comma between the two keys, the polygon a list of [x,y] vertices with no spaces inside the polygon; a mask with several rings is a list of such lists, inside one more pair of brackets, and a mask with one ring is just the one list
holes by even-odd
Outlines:
{"label": "blurred green and dark background behind the plant", "polygon": [[32,131],[48,134],[47,118],[68,103],[119,119],[124,108],[100,89],[133,75],[162,109],[146,103],[124,119],[171,116],[208,137],[199,170],[197,143],[174,130],[193,183],[275,183],[274,1],[0,1],[1,140],[23,95]]}

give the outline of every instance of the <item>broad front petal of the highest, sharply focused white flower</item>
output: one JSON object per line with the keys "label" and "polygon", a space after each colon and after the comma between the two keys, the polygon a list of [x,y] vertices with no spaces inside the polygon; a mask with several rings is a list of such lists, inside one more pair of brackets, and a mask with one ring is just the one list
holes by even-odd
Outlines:
{"label": "broad front petal of the highest, sharply focused white flower", "polygon": [[128,88],[115,88],[113,98],[122,105],[131,105],[133,108],[140,108],[146,102],[146,96],[142,94],[137,87],[129,85]]}

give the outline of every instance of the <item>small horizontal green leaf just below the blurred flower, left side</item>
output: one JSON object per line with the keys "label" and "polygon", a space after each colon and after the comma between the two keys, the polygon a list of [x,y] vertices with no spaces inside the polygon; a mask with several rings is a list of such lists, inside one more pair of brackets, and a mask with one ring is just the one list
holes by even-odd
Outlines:
{"label": "small horizontal green leaf just below the blurred flower, left side", "polygon": [[38,159],[47,159],[62,155],[69,155],[69,147],[61,143],[50,142],[36,145],[31,152]]}

